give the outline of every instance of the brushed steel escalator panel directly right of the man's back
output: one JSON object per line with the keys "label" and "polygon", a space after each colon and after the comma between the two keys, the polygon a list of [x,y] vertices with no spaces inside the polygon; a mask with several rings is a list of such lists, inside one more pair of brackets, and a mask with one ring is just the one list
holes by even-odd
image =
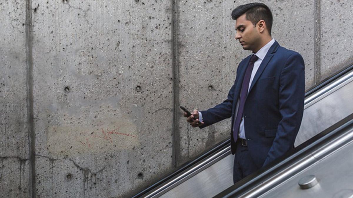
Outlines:
{"label": "brushed steel escalator panel directly right of the man's back", "polygon": [[295,146],[309,140],[353,112],[353,72],[305,99]]}

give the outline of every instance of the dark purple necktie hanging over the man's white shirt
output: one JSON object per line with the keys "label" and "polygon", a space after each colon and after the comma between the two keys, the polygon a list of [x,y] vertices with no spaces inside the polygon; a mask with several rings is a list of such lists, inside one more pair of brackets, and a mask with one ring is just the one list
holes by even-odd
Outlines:
{"label": "dark purple necktie hanging over the man's white shirt", "polygon": [[237,142],[237,139],[238,139],[239,126],[240,126],[241,119],[243,119],[244,105],[245,105],[245,100],[247,96],[247,90],[249,89],[251,72],[252,72],[252,69],[254,68],[254,63],[257,59],[258,57],[256,55],[252,55],[250,58],[249,65],[247,66],[245,71],[243,84],[241,86],[241,91],[240,91],[238,113],[237,113],[237,117],[235,117],[234,119],[234,125],[233,125],[234,142]]}

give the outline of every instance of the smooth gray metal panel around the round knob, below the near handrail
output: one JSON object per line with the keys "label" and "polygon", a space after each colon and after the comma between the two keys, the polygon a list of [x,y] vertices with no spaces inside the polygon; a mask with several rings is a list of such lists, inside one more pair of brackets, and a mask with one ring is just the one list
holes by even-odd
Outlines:
{"label": "smooth gray metal panel around the round knob, below the near handrail", "polygon": [[[349,192],[353,192],[352,151],[353,143],[349,142],[333,153],[324,155],[324,158],[283,181],[261,197],[351,197],[353,193],[349,195]],[[298,181],[310,174],[315,175],[319,183],[310,189],[300,189]]]}

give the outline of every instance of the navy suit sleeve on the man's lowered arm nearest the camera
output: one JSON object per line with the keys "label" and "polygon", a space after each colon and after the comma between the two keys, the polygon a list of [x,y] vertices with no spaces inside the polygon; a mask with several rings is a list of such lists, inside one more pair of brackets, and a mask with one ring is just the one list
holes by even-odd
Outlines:
{"label": "navy suit sleeve on the man's lowered arm nearest the camera", "polygon": [[295,52],[288,57],[280,75],[279,122],[276,137],[267,154],[264,165],[283,156],[293,148],[304,110],[305,74],[304,60]]}

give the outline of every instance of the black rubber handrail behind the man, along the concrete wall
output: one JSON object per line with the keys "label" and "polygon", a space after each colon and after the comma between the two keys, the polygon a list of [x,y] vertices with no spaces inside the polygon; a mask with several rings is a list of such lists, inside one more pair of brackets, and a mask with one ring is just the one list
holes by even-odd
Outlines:
{"label": "black rubber handrail behind the man, along the concrete wall", "polygon": [[[330,76],[327,79],[324,79],[323,81],[321,81],[318,85],[313,86],[312,88],[310,88],[306,93],[305,93],[305,98],[310,96],[311,94],[315,93],[316,91],[318,91],[319,89],[327,86],[329,83],[337,80],[338,78],[340,78],[341,76],[345,75],[347,72],[353,70],[353,64],[343,68],[342,70],[340,70],[339,72],[337,72],[336,74]],[[180,168],[176,169],[175,171],[173,171],[172,173],[166,175],[165,177],[163,177],[162,179],[158,180],[157,182],[155,182],[154,184],[150,185],[149,187],[145,188],[144,190],[140,191],[139,193],[135,194],[134,196],[132,196],[132,198],[137,198],[140,196],[143,196],[144,194],[146,194],[147,192],[153,190],[155,187],[163,184],[164,182],[168,181],[169,179],[172,179],[173,177],[175,177],[176,175],[182,173],[183,171],[185,171],[186,169],[194,166],[195,164],[197,164],[198,162],[202,161],[203,159],[205,159],[206,157],[216,153],[217,151],[229,146],[231,143],[231,139],[227,138],[227,140],[220,142],[219,144],[217,144],[215,147],[211,148],[210,150],[206,151],[205,153],[197,156],[195,159],[186,162],[185,164],[181,165]]]}

